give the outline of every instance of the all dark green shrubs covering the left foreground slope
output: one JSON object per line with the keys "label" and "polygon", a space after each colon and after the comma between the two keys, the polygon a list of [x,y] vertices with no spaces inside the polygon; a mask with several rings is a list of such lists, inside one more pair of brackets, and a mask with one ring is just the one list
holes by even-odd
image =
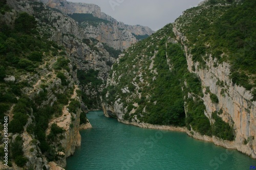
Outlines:
{"label": "all dark green shrubs covering the left foreground slope", "polygon": [[[0,26],[0,115],[4,117],[12,106],[13,119],[8,124],[9,132],[15,134],[27,130],[39,140],[38,144],[37,142],[34,144],[37,144],[42,154],[49,161],[53,161],[57,160],[59,155],[52,141],[58,142],[56,135],[61,137],[63,130],[53,125],[49,136],[46,136],[46,130],[50,119],[60,115],[63,105],[68,104],[70,91],[73,92],[73,89],[68,86],[69,81],[64,74],[66,70],[70,71],[69,60],[59,56],[66,55],[66,53],[57,43],[48,41],[47,38],[39,34],[35,18],[27,13],[17,14],[14,28],[4,24]],[[49,75],[41,80],[39,93],[34,93],[28,98],[26,94],[31,91],[31,88],[33,89],[32,85],[39,80],[38,78],[46,76],[45,71],[41,74],[41,70],[51,69],[49,57],[53,56],[57,58],[53,68],[57,72],[56,77],[61,79],[60,88],[63,89],[63,93],[55,94],[54,88],[58,85],[51,87],[47,83],[52,82],[44,82],[45,79],[50,79],[51,75]],[[16,80],[5,82],[6,75],[14,76]],[[26,80],[26,76],[29,80]],[[56,95],[57,101],[49,101],[47,104],[50,92]],[[29,117],[32,123],[27,125]],[[27,158],[23,156],[22,137],[17,136],[10,148],[10,161],[13,159],[18,166],[23,167]]]}

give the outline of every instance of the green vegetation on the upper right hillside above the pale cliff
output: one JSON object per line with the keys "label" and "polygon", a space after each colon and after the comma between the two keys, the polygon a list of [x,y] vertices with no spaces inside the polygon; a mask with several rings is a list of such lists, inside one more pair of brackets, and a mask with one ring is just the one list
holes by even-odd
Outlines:
{"label": "green vegetation on the upper right hillside above the pale cliff", "polygon": [[177,19],[180,31],[188,39],[185,43],[191,47],[193,61],[200,62],[199,68],[205,67],[211,54],[218,60],[215,65],[229,62],[233,84],[251,90],[256,87],[256,2],[211,0],[206,5],[208,8],[191,8]]}

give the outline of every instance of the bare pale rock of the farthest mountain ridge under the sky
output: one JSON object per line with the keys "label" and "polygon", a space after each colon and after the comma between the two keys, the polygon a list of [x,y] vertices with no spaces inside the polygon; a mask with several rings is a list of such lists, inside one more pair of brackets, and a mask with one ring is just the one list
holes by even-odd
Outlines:
{"label": "bare pale rock of the farthest mountain ridge under the sky", "polygon": [[[99,24],[98,26],[94,26],[92,28],[86,26],[84,29],[86,29],[86,32],[88,32],[87,35],[89,37],[96,38],[100,42],[107,43],[111,47],[119,50],[124,50],[131,44],[138,41],[133,34],[150,36],[154,33],[154,31],[148,27],[139,25],[130,26],[125,25],[123,22],[118,22],[110,15],[101,12],[100,7],[94,4],[72,3],[67,2],[66,0],[41,0],[41,2],[51,8],[60,10],[64,14],[92,14],[94,17],[109,21],[111,25]],[[90,34],[92,32],[93,34]],[[120,41],[119,39],[123,42],[121,44],[115,43],[115,41]]]}

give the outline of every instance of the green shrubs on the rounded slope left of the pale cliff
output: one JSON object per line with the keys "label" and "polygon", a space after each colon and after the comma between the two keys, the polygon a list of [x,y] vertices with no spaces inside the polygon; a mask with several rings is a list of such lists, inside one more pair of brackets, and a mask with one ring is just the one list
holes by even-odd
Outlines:
{"label": "green shrubs on the rounded slope left of the pale cliff", "polygon": [[[189,122],[185,120],[184,96],[194,93],[197,97],[203,96],[203,93],[200,79],[187,70],[182,47],[179,44],[166,43],[168,36],[174,37],[172,28],[172,25],[165,26],[152,37],[130,47],[119,58],[119,64],[113,65],[113,70],[116,71],[115,81],[118,84],[103,90],[103,95],[109,93],[108,98],[103,96],[103,100],[113,104],[120,98],[120,102],[127,109],[124,111],[125,120],[131,121],[136,116],[141,122],[157,125],[185,126],[191,123],[200,133],[210,134],[211,126],[204,115],[205,107],[202,102],[191,104],[191,108],[188,108]],[[153,59],[155,52],[157,53]],[[129,89],[130,93],[123,93],[120,90],[123,88]],[[140,98],[137,93],[140,93]],[[188,100],[191,99],[186,102]],[[133,109],[135,113],[130,114]]]}

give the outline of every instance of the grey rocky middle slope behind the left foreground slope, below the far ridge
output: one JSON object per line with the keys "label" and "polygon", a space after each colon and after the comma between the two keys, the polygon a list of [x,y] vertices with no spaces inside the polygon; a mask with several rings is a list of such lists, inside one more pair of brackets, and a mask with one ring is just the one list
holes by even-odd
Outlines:
{"label": "grey rocky middle slope behind the left foreground slope, below the far ridge", "polygon": [[104,81],[120,52],[87,37],[84,29],[79,27],[75,20],[46,8],[42,3],[36,3],[33,11],[38,18],[41,33],[63,45],[75,63],[74,77],[80,80],[83,103],[89,109],[99,109],[100,92],[104,87]]}

